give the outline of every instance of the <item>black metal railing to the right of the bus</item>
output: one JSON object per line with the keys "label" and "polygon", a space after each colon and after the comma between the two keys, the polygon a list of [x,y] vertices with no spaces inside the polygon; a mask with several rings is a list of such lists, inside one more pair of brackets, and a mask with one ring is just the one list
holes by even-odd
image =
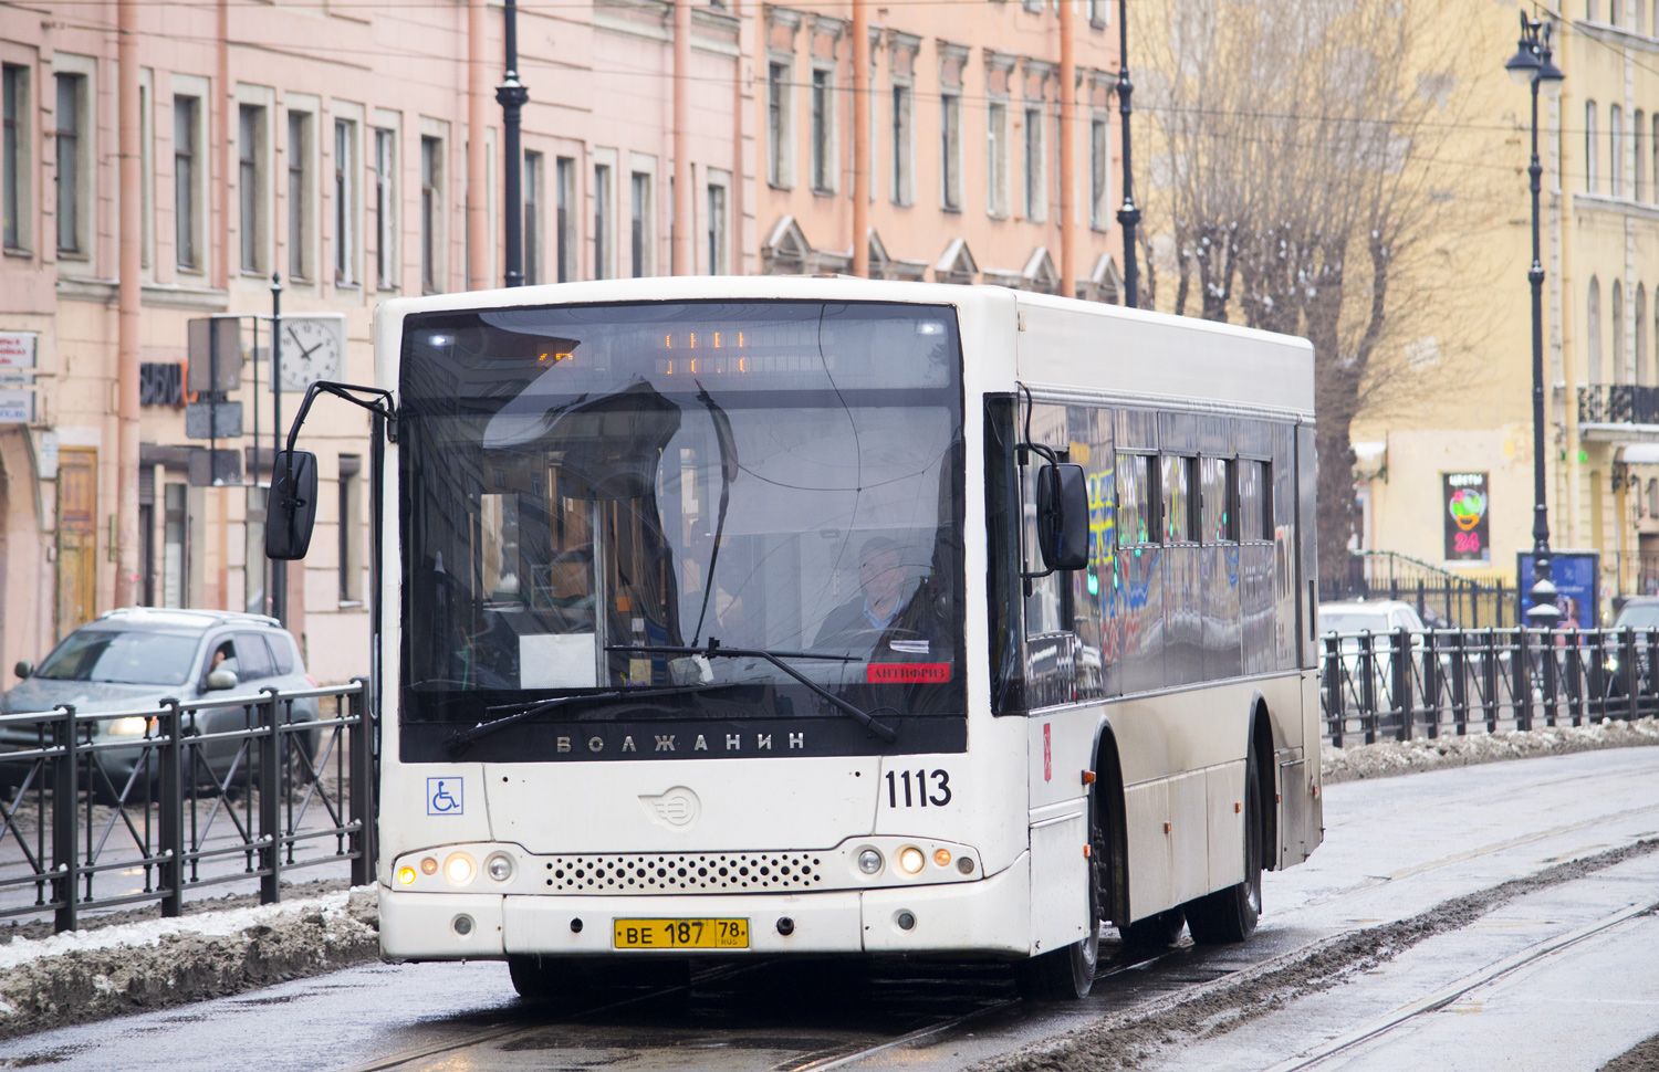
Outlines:
{"label": "black metal railing to the right of the bus", "polygon": [[1659,630],[1327,633],[1331,744],[1583,726],[1659,714]]}

